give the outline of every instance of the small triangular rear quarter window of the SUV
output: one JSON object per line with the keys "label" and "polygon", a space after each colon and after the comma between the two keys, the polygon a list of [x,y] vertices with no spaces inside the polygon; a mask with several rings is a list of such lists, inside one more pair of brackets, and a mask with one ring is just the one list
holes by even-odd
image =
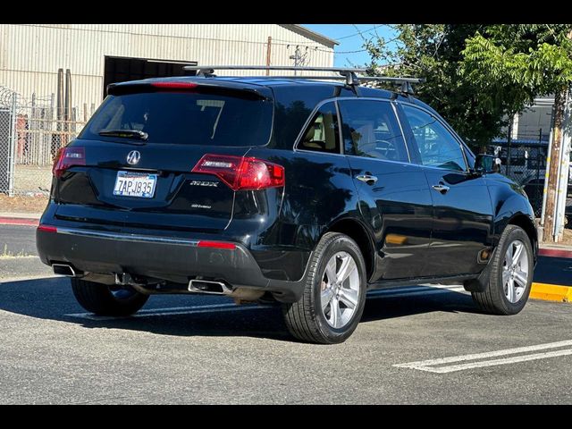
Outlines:
{"label": "small triangular rear quarter window of the SUV", "polygon": [[326,103],[315,113],[298,147],[315,152],[340,154],[340,133],[338,131],[336,105],[333,102]]}

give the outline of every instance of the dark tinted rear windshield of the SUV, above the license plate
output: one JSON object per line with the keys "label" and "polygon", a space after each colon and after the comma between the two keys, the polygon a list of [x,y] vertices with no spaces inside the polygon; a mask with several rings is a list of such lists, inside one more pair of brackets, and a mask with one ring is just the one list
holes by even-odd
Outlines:
{"label": "dark tinted rear windshield of the SUV, above the license plate", "polygon": [[188,92],[108,96],[79,138],[117,141],[99,133],[139,130],[147,133],[149,143],[265,145],[270,139],[273,102],[251,98]]}

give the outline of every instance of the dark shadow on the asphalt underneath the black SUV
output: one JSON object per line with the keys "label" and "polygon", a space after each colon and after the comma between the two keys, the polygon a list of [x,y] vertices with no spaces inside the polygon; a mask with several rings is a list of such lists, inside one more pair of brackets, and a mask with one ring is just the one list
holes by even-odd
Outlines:
{"label": "dark shadow on the asphalt underneath the black SUV", "polygon": [[[429,288],[427,288],[429,289]],[[230,304],[230,299],[192,295],[153,296],[144,310]],[[46,278],[0,283],[0,310],[38,319],[79,324],[86,328],[126,329],[174,336],[246,336],[292,341],[279,306],[246,310],[202,311],[194,314],[90,318],[77,304],[67,279]],[[362,323],[434,311],[475,313],[470,296],[454,291],[433,295],[367,299]]]}

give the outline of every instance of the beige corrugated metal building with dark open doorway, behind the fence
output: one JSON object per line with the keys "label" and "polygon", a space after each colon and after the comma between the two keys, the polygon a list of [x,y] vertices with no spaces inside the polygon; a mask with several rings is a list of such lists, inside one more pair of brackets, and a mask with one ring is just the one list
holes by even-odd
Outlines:
{"label": "beige corrugated metal building with dark open doorway, behind the fence", "polygon": [[0,24],[0,192],[47,194],[108,83],[193,74],[185,63],[332,66],[335,45],[293,24]]}

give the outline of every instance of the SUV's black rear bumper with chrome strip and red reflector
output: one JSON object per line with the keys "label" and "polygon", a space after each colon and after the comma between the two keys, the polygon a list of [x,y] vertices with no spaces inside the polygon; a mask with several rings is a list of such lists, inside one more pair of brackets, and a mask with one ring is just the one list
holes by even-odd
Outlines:
{"label": "SUV's black rear bumper with chrome strip and red reflector", "polygon": [[299,300],[306,278],[303,275],[298,282],[266,278],[240,243],[218,242],[227,248],[212,248],[188,238],[60,226],[57,231],[38,229],[36,243],[46,265],[64,262],[85,273],[130,273],[180,283],[202,276],[234,288],[271,291],[284,302]]}

